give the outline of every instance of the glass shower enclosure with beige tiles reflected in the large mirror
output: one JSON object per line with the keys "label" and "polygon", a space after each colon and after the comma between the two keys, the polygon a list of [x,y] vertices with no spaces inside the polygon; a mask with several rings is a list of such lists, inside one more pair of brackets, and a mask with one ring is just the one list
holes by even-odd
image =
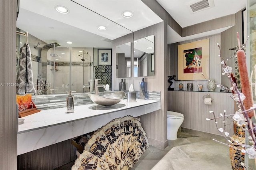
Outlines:
{"label": "glass shower enclosure with beige tiles reflected in the large mirror", "polygon": [[[93,79],[93,48],[54,47],[47,51],[48,91],[54,94],[88,92],[83,85]],[[53,89],[53,90],[50,90]]]}

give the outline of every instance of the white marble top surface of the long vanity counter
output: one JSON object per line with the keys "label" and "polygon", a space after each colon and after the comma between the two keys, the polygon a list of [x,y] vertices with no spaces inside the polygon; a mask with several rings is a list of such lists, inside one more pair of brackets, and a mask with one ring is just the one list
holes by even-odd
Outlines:
{"label": "white marble top surface of the long vanity counter", "polygon": [[137,102],[128,103],[126,99],[122,100],[118,104],[124,104],[124,107],[118,109],[110,109],[110,110],[92,110],[89,107],[95,106],[96,104],[88,104],[88,105],[79,105],[74,107],[74,113],[66,113],[66,107],[58,108],[58,109],[48,109],[42,110],[38,113],[34,113],[32,115],[28,115],[23,117],[24,124],[18,126],[18,134],[24,132],[30,132],[33,130],[38,130],[41,128],[52,127],[56,125],[61,125],[65,123],[72,123],[74,121],[79,121],[82,119],[88,119],[91,117],[97,117],[100,115],[113,113],[116,111],[122,111],[138,106],[148,105],[151,103],[156,103],[160,101],[155,100],[142,100],[136,99]]}

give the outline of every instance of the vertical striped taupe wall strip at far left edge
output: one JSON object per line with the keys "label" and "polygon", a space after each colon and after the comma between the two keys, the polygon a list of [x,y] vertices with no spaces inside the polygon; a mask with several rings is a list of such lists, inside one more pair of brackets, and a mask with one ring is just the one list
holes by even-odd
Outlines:
{"label": "vertical striped taupe wall strip at far left edge", "polygon": [[[16,0],[0,0],[0,83],[16,83]],[[16,86],[0,87],[0,170],[17,169]]]}

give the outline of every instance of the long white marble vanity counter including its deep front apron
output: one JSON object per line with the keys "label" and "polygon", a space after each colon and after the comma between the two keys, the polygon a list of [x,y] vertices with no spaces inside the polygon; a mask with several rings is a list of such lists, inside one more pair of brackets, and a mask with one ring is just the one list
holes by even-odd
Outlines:
{"label": "long white marble vanity counter including its deep front apron", "polygon": [[123,107],[93,110],[90,108],[97,109],[93,103],[75,106],[74,113],[66,113],[66,107],[63,107],[26,116],[24,124],[18,126],[17,155],[92,132],[119,117],[138,117],[160,109],[160,101],[136,101],[128,103],[123,99],[118,103],[119,106],[125,105]]}

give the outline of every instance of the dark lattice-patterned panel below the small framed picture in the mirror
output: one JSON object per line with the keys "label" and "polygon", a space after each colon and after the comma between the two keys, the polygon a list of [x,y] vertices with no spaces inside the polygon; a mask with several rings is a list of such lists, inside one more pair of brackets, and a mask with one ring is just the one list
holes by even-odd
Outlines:
{"label": "dark lattice-patterned panel below the small framed picture in the mirror", "polygon": [[99,84],[108,84],[112,88],[112,66],[111,65],[96,65],[94,66],[94,79],[101,79]]}

